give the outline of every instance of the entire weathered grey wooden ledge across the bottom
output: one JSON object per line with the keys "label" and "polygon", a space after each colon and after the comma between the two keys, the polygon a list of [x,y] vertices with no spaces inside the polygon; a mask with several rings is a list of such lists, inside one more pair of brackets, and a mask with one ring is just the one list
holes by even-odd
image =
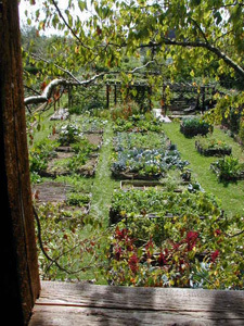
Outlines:
{"label": "entire weathered grey wooden ledge across the bottom", "polygon": [[244,325],[244,291],[41,285],[29,326]]}

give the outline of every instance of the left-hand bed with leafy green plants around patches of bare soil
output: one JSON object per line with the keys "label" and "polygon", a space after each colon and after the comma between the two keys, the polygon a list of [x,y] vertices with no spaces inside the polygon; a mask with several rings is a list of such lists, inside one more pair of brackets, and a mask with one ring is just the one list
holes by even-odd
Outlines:
{"label": "left-hand bed with leafy green plants around patches of bare soil", "polygon": [[30,171],[44,177],[94,176],[102,142],[102,134],[84,135],[76,125],[66,125],[31,150]]}

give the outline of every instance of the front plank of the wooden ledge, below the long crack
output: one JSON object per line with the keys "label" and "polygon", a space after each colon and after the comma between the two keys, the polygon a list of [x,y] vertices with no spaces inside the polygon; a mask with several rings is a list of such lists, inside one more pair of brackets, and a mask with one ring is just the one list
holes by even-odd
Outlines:
{"label": "front plank of the wooden ledge, below the long crack", "polygon": [[209,321],[201,313],[170,314],[164,312],[112,310],[94,308],[38,306],[35,309],[29,326],[80,326],[80,325],[243,325],[240,321],[231,321],[224,316],[218,321]]}

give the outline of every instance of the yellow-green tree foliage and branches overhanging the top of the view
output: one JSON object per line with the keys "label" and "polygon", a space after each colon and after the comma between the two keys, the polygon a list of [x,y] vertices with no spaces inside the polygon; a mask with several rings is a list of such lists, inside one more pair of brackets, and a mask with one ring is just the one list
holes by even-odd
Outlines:
{"label": "yellow-green tree foliage and branches overhanging the top of the view", "polygon": [[[44,51],[24,47],[25,59],[38,68],[39,84],[59,77],[57,85],[77,85],[108,73],[133,82],[136,70],[125,70],[126,58],[133,57],[150,85],[182,75],[202,84],[235,78],[242,87],[243,8],[235,0],[79,0],[65,8],[46,0],[35,15],[26,12],[27,23],[37,24],[39,39],[50,27],[62,36],[52,37]],[[27,77],[35,83],[29,72]]]}

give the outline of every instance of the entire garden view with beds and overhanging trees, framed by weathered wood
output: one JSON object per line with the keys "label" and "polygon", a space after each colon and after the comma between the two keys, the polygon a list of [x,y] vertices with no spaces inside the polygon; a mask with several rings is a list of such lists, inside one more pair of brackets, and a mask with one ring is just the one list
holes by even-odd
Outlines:
{"label": "entire garden view with beds and overhanging trees, framed by weathered wood", "polygon": [[244,288],[243,5],[163,2],[25,12],[42,279]]}

